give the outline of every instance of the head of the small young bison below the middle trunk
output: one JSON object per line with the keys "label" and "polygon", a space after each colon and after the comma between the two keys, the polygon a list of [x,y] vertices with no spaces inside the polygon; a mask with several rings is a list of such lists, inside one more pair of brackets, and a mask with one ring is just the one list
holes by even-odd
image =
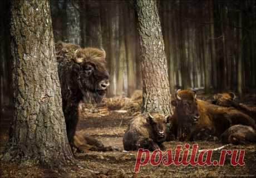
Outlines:
{"label": "head of the small young bison below the middle trunk", "polygon": [[151,125],[155,141],[157,143],[163,143],[164,141],[166,141],[170,117],[160,113],[148,113],[146,120],[147,123]]}

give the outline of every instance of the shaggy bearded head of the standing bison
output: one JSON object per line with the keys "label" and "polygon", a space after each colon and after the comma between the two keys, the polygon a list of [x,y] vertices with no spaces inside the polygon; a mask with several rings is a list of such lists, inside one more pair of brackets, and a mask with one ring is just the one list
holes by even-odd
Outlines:
{"label": "shaggy bearded head of the standing bison", "polygon": [[77,83],[85,102],[99,103],[106,94],[110,83],[105,58],[105,51],[97,48],[80,48],[75,52]]}

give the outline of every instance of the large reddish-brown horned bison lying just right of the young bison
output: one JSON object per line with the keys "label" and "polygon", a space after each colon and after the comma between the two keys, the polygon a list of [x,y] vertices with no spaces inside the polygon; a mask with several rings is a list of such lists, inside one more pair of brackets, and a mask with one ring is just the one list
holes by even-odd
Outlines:
{"label": "large reddish-brown horned bison lying just right of the young bison", "polygon": [[[171,103],[175,106],[172,116],[174,127],[171,133],[178,138],[181,134],[175,128],[188,126],[191,128],[183,131],[183,134],[187,135],[183,137],[186,140],[214,140],[220,138],[230,126],[237,124],[255,129],[255,121],[250,116],[234,108],[225,108],[196,99],[194,91],[178,90]],[[196,120],[197,112],[199,118]]]}

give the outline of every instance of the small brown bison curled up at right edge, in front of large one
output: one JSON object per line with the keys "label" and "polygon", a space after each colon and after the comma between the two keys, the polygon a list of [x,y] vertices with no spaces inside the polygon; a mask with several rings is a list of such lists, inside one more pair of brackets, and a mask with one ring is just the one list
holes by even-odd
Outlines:
{"label": "small brown bison curled up at right edge, in front of large one", "polygon": [[221,135],[221,140],[224,144],[248,145],[256,142],[256,133],[251,126],[233,125]]}

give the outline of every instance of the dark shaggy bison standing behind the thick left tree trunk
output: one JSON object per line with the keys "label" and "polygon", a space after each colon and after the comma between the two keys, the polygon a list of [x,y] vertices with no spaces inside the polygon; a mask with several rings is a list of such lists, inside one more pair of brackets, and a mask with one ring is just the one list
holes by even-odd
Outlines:
{"label": "dark shaggy bison standing behind the thick left tree trunk", "polygon": [[109,86],[106,53],[97,48],[80,48],[75,44],[59,42],[56,44],[56,55],[67,138],[72,147],[79,102],[99,103]]}

